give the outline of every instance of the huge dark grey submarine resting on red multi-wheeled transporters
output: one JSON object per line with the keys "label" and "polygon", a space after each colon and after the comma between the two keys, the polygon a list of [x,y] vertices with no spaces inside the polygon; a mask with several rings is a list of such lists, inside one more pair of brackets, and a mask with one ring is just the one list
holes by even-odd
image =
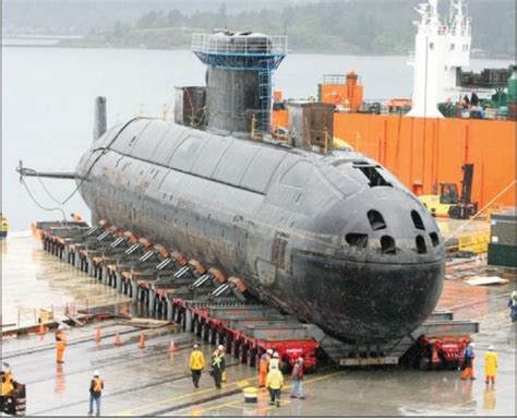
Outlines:
{"label": "huge dark grey submarine resting on red multi-wheeled transporters", "polygon": [[182,121],[133,118],[108,129],[79,163],[79,191],[94,218],[237,276],[254,297],[334,337],[402,337],[442,291],[436,223],[364,155],[250,139],[269,125],[282,38],[194,35],[206,87],[181,91]]}

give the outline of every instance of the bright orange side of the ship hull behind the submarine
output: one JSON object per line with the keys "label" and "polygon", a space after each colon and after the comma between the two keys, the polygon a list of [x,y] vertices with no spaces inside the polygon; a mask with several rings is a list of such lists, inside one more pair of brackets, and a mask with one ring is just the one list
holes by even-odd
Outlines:
{"label": "bright orange side of the ship hull behind the submarine", "polygon": [[334,115],[334,135],[376,159],[417,195],[441,182],[461,184],[474,165],[472,201],[479,208],[516,205],[514,121]]}

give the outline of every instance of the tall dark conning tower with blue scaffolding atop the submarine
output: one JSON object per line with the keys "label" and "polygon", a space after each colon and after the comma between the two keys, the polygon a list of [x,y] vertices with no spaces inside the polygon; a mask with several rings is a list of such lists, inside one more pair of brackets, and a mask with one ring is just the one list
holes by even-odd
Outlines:
{"label": "tall dark conning tower with blue scaffolding atop the submarine", "polygon": [[269,131],[272,73],[287,55],[286,36],[194,34],[192,51],[207,65],[207,130],[248,136]]}

